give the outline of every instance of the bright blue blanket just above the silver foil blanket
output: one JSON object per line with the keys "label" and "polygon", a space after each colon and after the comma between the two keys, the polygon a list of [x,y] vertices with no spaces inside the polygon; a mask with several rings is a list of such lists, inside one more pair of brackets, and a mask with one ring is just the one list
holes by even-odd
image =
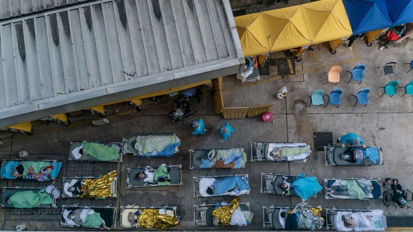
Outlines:
{"label": "bright blue blanket just above the silver foil blanket", "polygon": [[[305,175],[301,174],[299,176]],[[291,186],[294,187],[295,193],[297,193],[297,195],[304,200],[309,199],[311,196],[314,196],[317,192],[323,189],[315,177],[297,178]]]}

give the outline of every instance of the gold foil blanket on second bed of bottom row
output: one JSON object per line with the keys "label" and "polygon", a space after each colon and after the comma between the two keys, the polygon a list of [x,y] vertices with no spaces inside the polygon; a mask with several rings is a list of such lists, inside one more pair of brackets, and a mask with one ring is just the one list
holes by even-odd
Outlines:
{"label": "gold foil blanket on second bed of bottom row", "polygon": [[168,216],[159,214],[157,209],[142,209],[138,215],[138,226],[145,229],[168,230],[178,225],[176,215]]}

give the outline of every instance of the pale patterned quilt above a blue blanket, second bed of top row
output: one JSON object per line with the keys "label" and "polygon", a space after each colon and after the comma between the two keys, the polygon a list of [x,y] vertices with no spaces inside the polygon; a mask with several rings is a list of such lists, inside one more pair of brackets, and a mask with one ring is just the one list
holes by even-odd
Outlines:
{"label": "pale patterned quilt above a blue blanket, second bed of top row", "polygon": [[160,152],[168,145],[179,143],[180,140],[176,135],[147,135],[136,138],[135,149],[138,154],[143,155],[148,152]]}

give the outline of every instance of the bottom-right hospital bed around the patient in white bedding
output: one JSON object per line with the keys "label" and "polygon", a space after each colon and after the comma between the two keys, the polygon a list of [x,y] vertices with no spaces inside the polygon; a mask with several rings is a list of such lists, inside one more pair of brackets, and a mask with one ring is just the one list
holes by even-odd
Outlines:
{"label": "bottom-right hospital bed around the patient in white bedding", "polygon": [[[339,231],[340,228],[336,228],[336,226],[335,226],[334,217],[336,215],[342,215],[343,213],[353,214],[353,213],[357,213],[357,212],[372,213],[372,210],[370,210],[370,209],[365,209],[365,210],[336,209],[335,207],[332,208],[332,209],[326,209],[326,229],[327,230],[337,230],[337,231]],[[383,215],[383,211],[381,211],[381,215],[376,216],[375,219],[379,221],[379,225],[381,227],[381,228],[376,228],[376,230],[384,231],[384,229],[387,228],[387,219],[386,219],[386,216]],[[377,223],[375,225],[379,226]],[[366,229],[367,229],[366,231],[372,230],[372,229],[368,229],[368,228],[366,228]],[[363,231],[363,230],[360,230],[360,231]]]}

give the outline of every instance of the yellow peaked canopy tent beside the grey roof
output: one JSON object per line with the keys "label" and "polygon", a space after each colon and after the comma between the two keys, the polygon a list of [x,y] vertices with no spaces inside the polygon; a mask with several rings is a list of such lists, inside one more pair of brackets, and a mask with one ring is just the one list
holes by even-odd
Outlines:
{"label": "yellow peaked canopy tent beside the grey roof", "polygon": [[342,0],[303,5],[235,17],[244,56],[318,44],[350,36]]}

